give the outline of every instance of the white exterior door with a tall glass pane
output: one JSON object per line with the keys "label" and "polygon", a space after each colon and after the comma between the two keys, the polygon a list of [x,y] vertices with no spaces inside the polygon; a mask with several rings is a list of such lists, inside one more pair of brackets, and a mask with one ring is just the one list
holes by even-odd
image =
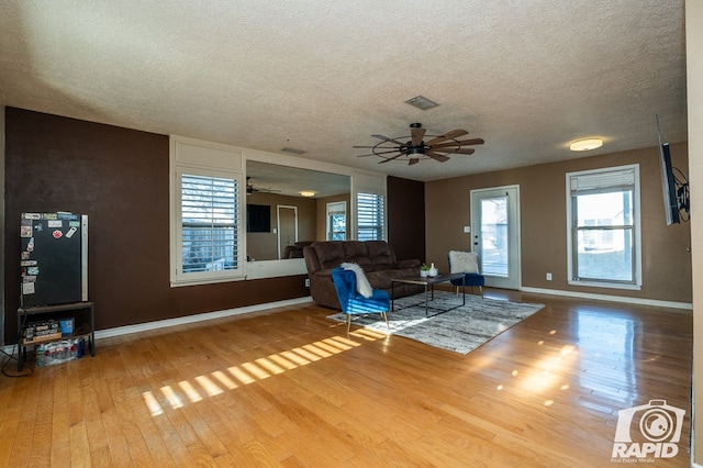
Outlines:
{"label": "white exterior door with a tall glass pane", "polygon": [[471,248],[486,286],[520,289],[520,187],[471,190]]}

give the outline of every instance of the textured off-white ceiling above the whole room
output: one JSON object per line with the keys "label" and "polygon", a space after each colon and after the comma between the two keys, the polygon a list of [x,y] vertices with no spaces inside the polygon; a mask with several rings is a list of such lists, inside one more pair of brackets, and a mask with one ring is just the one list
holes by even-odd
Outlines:
{"label": "textured off-white ceiling above the whole room", "polygon": [[[0,103],[434,180],[687,140],[683,0],[0,0]],[[423,94],[439,107],[404,103]],[[482,137],[378,165],[371,134]],[[601,149],[574,155],[573,140]]]}

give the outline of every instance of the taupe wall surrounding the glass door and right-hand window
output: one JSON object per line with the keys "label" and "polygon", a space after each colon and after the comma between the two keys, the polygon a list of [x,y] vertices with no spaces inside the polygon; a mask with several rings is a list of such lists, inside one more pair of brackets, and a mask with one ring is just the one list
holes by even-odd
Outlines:
{"label": "taupe wall surrounding the glass door and right-hand window", "polygon": [[[656,126],[651,125],[652,140]],[[688,172],[687,144],[672,144],[673,165]],[[639,164],[643,288],[640,291],[569,286],[567,282],[566,174]],[[425,188],[427,261],[447,270],[450,249],[469,249],[470,191],[520,186],[522,287],[690,303],[690,224],[665,222],[657,147],[592,156],[428,182]],[[546,272],[553,280],[546,280]]]}

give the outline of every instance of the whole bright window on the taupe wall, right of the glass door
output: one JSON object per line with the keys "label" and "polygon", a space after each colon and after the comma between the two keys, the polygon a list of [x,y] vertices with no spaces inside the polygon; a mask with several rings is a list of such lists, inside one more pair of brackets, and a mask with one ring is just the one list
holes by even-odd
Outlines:
{"label": "whole bright window on the taupe wall, right of the glass door", "polygon": [[639,288],[639,166],[567,174],[572,285]]}

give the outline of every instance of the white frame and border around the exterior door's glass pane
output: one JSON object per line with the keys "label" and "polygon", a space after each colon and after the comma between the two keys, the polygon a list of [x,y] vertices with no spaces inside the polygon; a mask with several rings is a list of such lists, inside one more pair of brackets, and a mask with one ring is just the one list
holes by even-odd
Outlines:
{"label": "white frame and border around the exterior door's glass pane", "polygon": [[[481,210],[478,203],[481,198],[507,196],[507,278],[486,275],[486,286],[502,289],[520,290],[522,288],[522,255],[520,231],[520,186],[490,187],[475,189],[470,192],[471,207],[471,252],[481,255],[478,248],[478,235],[481,233]],[[481,261],[483,259],[481,258]],[[481,265],[481,271],[483,267]]]}

